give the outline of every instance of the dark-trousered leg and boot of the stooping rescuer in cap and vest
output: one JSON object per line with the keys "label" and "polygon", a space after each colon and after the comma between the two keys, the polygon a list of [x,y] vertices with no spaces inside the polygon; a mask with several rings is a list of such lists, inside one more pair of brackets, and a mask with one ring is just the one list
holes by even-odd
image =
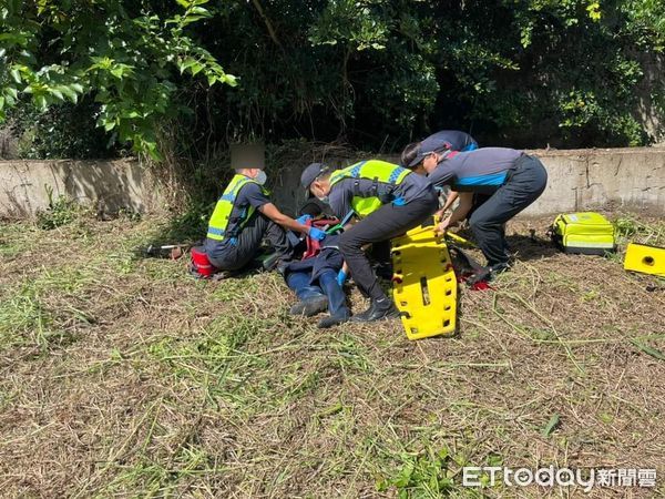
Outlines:
{"label": "dark-trousered leg and boot of the stooping rescuer in cap and vest", "polygon": [[437,207],[438,202],[433,193],[403,206],[387,204],[341,235],[339,249],[350,274],[360,291],[371,299],[370,308],[364,314],[358,314],[357,320],[375,320],[396,313],[392,303],[377,282],[362,246],[403,234],[426,221]]}

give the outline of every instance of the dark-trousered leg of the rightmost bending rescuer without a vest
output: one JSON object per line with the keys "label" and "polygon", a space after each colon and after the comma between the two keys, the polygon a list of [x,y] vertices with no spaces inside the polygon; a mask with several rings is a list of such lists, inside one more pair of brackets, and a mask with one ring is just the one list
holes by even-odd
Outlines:
{"label": "dark-trousered leg of the rightmost bending rescuer without a vest", "polygon": [[488,265],[508,264],[504,224],[542,194],[546,181],[548,175],[540,161],[526,156],[511,180],[473,212],[469,224]]}

